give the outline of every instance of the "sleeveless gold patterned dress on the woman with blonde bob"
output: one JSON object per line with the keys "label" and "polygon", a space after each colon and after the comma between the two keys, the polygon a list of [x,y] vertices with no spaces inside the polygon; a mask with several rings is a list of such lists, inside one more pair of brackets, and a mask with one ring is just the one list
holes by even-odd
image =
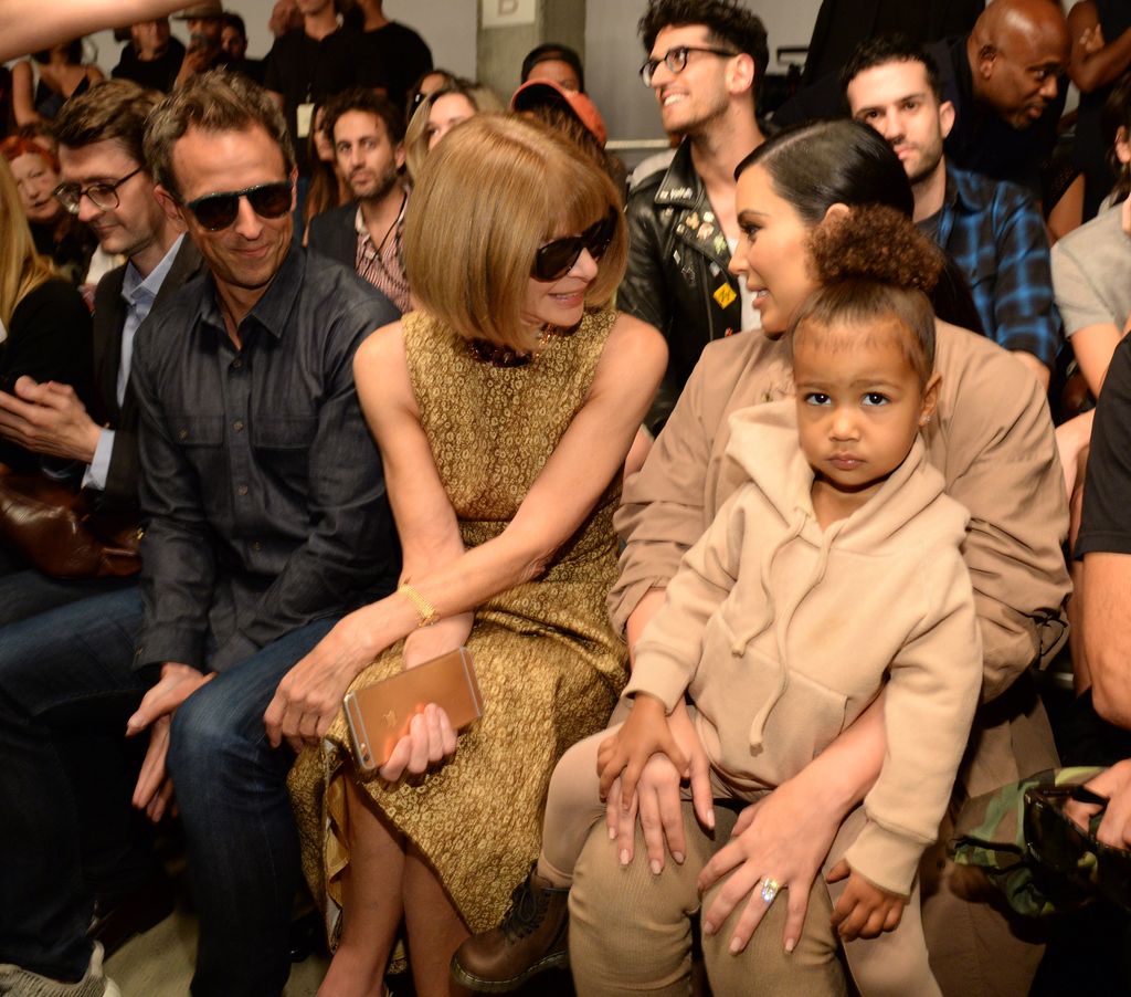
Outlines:
{"label": "sleeveless gold patterned dress on the woman with blonde bob", "polygon": [[[498,536],[515,516],[581,407],[615,312],[587,313],[521,367],[494,367],[424,312],[403,319],[421,424],[466,547]],[[484,602],[467,646],[484,713],[455,756],[415,781],[362,783],[423,851],[473,931],[497,925],[537,857],[550,774],[575,741],[601,730],[625,680],[623,642],[605,596],[616,577],[613,512],[620,476],[536,581]],[[400,670],[402,644],[353,684]],[[340,875],[349,861],[344,785],[355,779],[342,714],[319,749],[300,755],[291,796],[314,895],[337,935]]]}

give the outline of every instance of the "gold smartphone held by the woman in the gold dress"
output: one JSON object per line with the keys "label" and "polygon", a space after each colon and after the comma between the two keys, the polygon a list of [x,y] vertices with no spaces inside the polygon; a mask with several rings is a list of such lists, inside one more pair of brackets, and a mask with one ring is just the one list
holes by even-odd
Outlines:
{"label": "gold smartphone held by the woman in the gold dress", "polygon": [[483,697],[466,647],[346,693],[343,705],[357,767],[372,772],[388,762],[397,741],[408,733],[412,719],[429,703],[442,706],[456,730],[483,715]]}

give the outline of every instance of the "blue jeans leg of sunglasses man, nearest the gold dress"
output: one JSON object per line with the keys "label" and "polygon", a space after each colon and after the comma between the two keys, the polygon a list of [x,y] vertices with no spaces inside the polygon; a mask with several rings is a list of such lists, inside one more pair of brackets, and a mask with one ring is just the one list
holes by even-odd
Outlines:
{"label": "blue jeans leg of sunglasses man, nearest the gold dress", "polygon": [[169,771],[200,914],[196,997],[279,994],[291,972],[291,909],[301,879],[286,776],[264,713],[283,677],[337,620],[293,630],[216,676],[173,716]]}

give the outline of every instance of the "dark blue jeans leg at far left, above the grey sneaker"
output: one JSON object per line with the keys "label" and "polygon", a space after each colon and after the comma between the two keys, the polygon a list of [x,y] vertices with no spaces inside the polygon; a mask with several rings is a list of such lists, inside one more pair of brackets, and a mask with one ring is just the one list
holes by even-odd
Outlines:
{"label": "dark blue jeans leg at far left, above the grey sneaker", "polygon": [[137,773],[126,721],[145,693],[131,669],[136,588],[0,629],[0,962],[78,980],[92,866],[129,850]]}

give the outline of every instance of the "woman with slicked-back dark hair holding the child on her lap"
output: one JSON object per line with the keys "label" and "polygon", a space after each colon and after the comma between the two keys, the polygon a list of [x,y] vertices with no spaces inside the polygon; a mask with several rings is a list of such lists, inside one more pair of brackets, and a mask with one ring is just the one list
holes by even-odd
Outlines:
{"label": "woman with slicked-back dark hair holding the child on her lap", "polygon": [[[763,335],[732,336],[703,351],[644,469],[625,483],[616,525],[627,545],[610,609],[630,648],[663,604],[683,555],[741,480],[725,458],[728,418],[793,394],[782,337],[817,286],[810,265],[814,230],[827,216],[865,204],[910,209],[908,181],[895,153],[856,122],[819,122],[783,132],[736,172],[742,239],[732,267],[746,278],[761,310]],[[874,251],[883,252],[884,246]],[[924,441],[947,492],[970,513],[964,556],[983,642],[984,705],[959,771],[960,800],[1056,762],[1028,670],[1046,662],[1063,641],[1069,585],[1061,543],[1068,515],[1052,423],[1033,375],[994,343],[942,320],[935,363],[942,384]],[[852,611],[849,593],[845,605]],[[882,765],[882,704],[881,695],[797,775],[752,794],[756,801],[736,824],[716,807],[714,836],[700,830],[690,803],[681,806],[680,773],[666,760],[648,763],[634,798],[624,801],[630,806],[621,806],[614,784],[610,822],[618,841],[611,844],[604,828],[590,833],[570,896],[569,937],[579,991],[685,992],[691,945],[687,912],[699,909],[698,888],[709,891],[701,919],[705,932],[719,939],[713,944],[741,952],[765,920],[754,936],[758,972],[788,983],[789,960],[797,954],[786,955],[784,944],[801,937],[810,891],[829,846]],[[688,714],[676,708],[670,723],[690,759],[693,790],[700,799],[711,796],[705,754]],[[638,808],[644,832],[633,826]],[[940,841],[946,839],[944,826]],[[648,863],[631,861],[642,848]],[[714,852],[698,882],[681,873],[691,848]],[[674,865],[665,867],[665,852]],[[943,992],[1026,992],[1039,948],[1022,943],[988,904],[959,895],[943,849],[930,849],[921,868],[930,871],[922,883],[924,928]],[[674,903],[671,892],[654,885],[654,869],[680,880],[682,894]],[[772,903],[777,891],[760,892],[766,878],[788,887],[787,903]],[[661,894],[667,905],[653,909]],[[657,954],[657,942],[668,961]],[[835,948],[823,957],[835,960]],[[1003,982],[1002,975],[1011,979]],[[778,991],[767,983],[767,992]]]}

